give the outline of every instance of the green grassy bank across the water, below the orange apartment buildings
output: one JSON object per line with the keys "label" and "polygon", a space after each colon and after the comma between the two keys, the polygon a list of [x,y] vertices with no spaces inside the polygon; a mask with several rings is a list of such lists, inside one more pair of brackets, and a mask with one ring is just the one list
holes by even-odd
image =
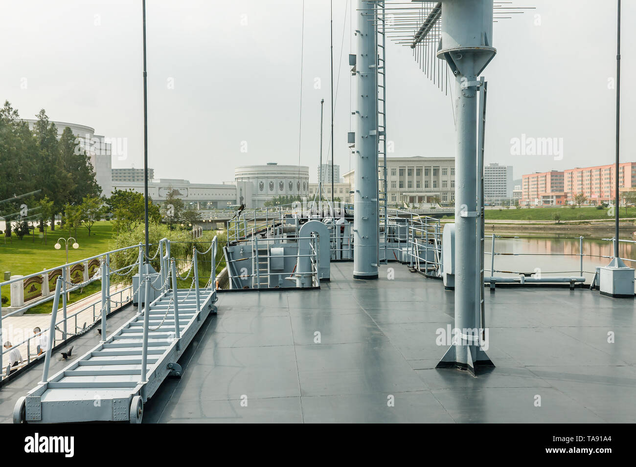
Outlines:
{"label": "green grassy bank across the water, below the orange apartment buildings", "polygon": [[[484,212],[485,219],[490,220],[554,220],[555,213],[560,215],[563,220],[590,220],[590,219],[614,219],[614,213],[607,215],[608,209],[597,209],[595,207],[583,207],[574,209],[567,207],[554,207],[554,208],[518,208],[511,207],[509,209],[487,209]],[[579,217],[583,216],[583,217]],[[446,216],[446,219],[453,219],[453,215]],[[619,211],[619,217],[636,217],[636,208],[621,208]]]}

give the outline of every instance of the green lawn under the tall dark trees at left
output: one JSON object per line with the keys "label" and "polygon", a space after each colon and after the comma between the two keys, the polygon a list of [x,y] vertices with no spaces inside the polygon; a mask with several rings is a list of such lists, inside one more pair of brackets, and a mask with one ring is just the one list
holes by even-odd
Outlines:
{"label": "green lawn under the tall dark trees at left", "polygon": [[[79,244],[77,250],[69,247],[69,261],[78,261],[79,259],[107,252],[110,249],[109,241],[111,240],[112,233],[113,227],[111,222],[105,221],[95,222],[95,225],[93,225],[91,229],[90,236],[88,236],[86,227],[78,227],[77,236],[75,237],[73,231],[69,233],[68,229],[56,226],[55,231],[48,231],[46,233],[46,245],[44,243],[44,234],[39,233],[37,229],[35,238],[33,238],[32,235],[27,235],[24,236],[22,240],[18,240],[17,236],[13,234],[11,239],[6,238],[6,243],[0,241],[0,273],[3,273],[3,279],[4,271],[11,271],[12,276],[15,274],[25,276],[66,263],[64,242],[61,242],[62,248],[59,250],[55,250],[53,247],[60,237],[67,238],[73,236]],[[0,240],[4,240],[4,238],[0,238]],[[2,288],[2,295],[7,298],[9,297],[8,287]],[[79,293],[77,295],[79,295]],[[73,294],[71,294],[71,300],[74,301]],[[48,312],[50,312],[50,305],[47,304],[46,306],[49,307]],[[43,305],[40,305],[38,308],[40,307],[43,307]]]}

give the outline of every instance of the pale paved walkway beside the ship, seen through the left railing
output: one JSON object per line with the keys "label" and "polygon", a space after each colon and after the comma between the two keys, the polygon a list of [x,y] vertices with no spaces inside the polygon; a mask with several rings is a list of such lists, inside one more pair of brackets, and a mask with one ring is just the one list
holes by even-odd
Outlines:
{"label": "pale paved walkway beside the ship, seen through the left railing", "polygon": [[[122,292],[123,291],[123,292]],[[122,292],[121,294],[119,292]],[[117,308],[120,308],[120,302],[130,302],[132,297],[131,290],[127,285],[113,285],[111,287],[111,311]],[[99,316],[100,308],[102,301],[102,292],[96,292],[95,294],[88,295],[81,299],[80,301],[69,304],[66,307],[66,315],[69,316],[68,324],[67,324],[67,333],[73,333],[78,330],[81,330],[84,323],[86,326],[90,326],[93,321]],[[52,305],[52,303],[51,303]],[[83,310],[83,311],[80,311]],[[73,316],[74,313],[79,313],[76,316]],[[62,322],[64,321],[64,316],[62,314],[62,309],[59,309],[57,314],[57,323],[58,327],[62,329]],[[31,337],[33,335],[33,328],[39,327],[42,330],[47,330],[51,323],[51,314],[48,313],[38,314],[38,315],[22,315],[22,316],[3,316],[2,319],[2,339],[3,341],[10,341],[13,344],[17,344],[17,342],[22,342],[27,337]],[[62,340],[62,332],[55,332],[55,339],[57,342]],[[31,339],[29,341],[29,347],[27,347],[27,343],[18,346],[20,350],[20,354],[22,355],[23,360],[29,359],[27,355],[31,356],[31,360],[36,355],[36,340]],[[8,353],[3,355],[3,365],[6,366],[6,358],[8,358]],[[4,372],[3,372],[4,374]]]}

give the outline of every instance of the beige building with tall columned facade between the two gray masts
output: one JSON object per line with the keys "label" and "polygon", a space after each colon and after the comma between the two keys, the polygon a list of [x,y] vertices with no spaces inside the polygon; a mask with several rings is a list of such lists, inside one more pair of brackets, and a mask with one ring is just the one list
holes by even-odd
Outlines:
{"label": "beige building with tall columned facade between the two gray masts", "polygon": [[[380,158],[380,166],[384,164]],[[343,175],[347,186],[354,187],[354,170]],[[455,158],[424,157],[387,158],[387,204],[419,206],[455,203]],[[379,187],[380,191],[384,188]]]}

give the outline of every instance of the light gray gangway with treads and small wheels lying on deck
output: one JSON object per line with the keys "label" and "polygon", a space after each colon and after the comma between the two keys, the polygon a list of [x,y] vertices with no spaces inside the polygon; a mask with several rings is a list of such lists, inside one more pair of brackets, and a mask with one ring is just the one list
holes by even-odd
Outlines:
{"label": "light gray gangway with treads and small wheels lying on deck", "polygon": [[[211,250],[212,273],[208,285],[212,287],[198,287],[198,252],[195,248],[191,266],[193,281],[189,289],[176,288],[178,274],[174,258],[162,263],[169,264],[169,267],[163,274],[166,279],[155,301],[151,302],[148,298],[153,285],[151,277],[146,276],[137,289],[139,294],[142,290],[145,293],[144,308],[140,299],[139,312],[130,321],[50,378],[48,369],[53,339],[49,338],[42,381],[18,399],[13,410],[13,422],[141,423],[144,403],[155,394],[167,376],[181,377],[182,370],[177,363],[179,357],[207,316],[216,313],[216,237]],[[170,252],[169,243],[167,252]],[[170,279],[172,288],[167,288]],[[52,323],[55,323],[57,315],[61,286],[62,279],[59,278],[53,300]]]}

